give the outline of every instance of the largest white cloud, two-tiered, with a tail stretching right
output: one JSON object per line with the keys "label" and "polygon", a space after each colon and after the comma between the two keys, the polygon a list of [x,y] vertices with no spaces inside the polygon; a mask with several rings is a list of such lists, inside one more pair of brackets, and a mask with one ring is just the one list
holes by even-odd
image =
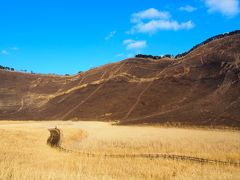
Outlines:
{"label": "largest white cloud, two-tiered, with a tail stretching right", "polygon": [[192,21],[178,22],[171,19],[171,14],[151,8],[134,13],[131,16],[133,27],[127,32],[129,34],[148,33],[153,34],[160,30],[182,30],[192,29],[195,25]]}

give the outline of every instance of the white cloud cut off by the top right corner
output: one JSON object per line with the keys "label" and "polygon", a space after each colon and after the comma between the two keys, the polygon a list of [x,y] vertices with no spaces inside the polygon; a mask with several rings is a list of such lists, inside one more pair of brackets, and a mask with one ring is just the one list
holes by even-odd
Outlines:
{"label": "white cloud cut off by the top right corner", "polygon": [[239,13],[238,0],[204,0],[209,13],[220,12],[224,16],[232,17]]}

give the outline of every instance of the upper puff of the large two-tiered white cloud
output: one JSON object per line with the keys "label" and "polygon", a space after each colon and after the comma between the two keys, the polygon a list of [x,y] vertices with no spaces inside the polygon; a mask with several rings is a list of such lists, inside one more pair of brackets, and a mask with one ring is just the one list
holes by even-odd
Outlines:
{"label": "upper puff of the large two-tiered white cloud", "polygon": [[166,11],[158,11],[157,9],[150,8],[138,13],[132,14],[131,22],[136,23],[144,19],[169,19],[171,15]]}

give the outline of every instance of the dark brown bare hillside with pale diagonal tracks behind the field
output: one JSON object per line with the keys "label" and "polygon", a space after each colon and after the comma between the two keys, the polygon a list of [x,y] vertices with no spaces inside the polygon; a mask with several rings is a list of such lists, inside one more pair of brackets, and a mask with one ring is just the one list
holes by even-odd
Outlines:
{"label": "dark brown bare hillside with pale diagonal tracks behind the field", "polygon": [[70,77],[0,70],[0,119],[240,127],[240,34],[178,59],[132,58]]}

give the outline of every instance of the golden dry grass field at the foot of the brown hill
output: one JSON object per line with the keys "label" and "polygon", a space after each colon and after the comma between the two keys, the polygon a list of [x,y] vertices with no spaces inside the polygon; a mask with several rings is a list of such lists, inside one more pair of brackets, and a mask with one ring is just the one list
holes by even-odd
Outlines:
{"label": "golden dry grass field at the foot of the brown hill", "polygon": [[[48,128],[62,146],[46,145]],[[240,161],[240,132],[196,128],[112,126],[103,122],[0,121],[0,179],[240,179],[240,167],[101,154],[170,153]]]}

